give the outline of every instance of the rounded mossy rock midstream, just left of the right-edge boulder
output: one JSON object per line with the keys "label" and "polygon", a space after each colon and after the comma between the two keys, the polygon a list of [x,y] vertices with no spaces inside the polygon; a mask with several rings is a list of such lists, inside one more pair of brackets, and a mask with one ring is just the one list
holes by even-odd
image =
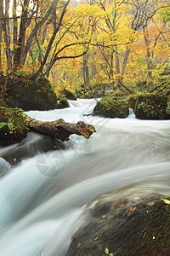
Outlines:
{"label": "rounded mossy rock midstream, just left of the right-edge boulder", "polygon": [[94,108],[94,115],[108,118],[126,118],[128,113],[127,102],[116,96],[103,97]]}

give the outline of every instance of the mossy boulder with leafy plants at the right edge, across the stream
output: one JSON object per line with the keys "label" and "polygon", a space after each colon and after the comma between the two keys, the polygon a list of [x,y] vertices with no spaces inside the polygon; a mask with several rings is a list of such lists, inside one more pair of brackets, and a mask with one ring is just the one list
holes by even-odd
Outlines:
{"label": "mossy boulder with leafy plants at the right edge, across the stream", "polygon": [[130,96],[128,106],[133,108],[137,119],[170,119],[166,96],[156,94]]}

